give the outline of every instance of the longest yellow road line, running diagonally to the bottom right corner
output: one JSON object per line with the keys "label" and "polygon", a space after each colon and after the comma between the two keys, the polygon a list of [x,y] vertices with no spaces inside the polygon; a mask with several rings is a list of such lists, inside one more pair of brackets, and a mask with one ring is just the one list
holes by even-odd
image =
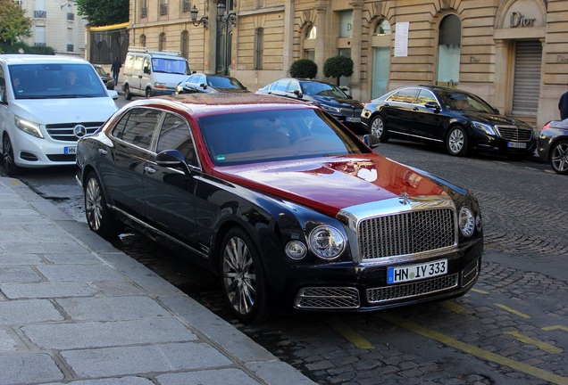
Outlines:
{"label": "longest yellow road line, running diagonally to the bottom right corner", "polygon": [[562,376],[559,376],[555,373],[550,373],[550,372],[544,371],[542,369],[539,369],[538,367],[522,364],[522,363],[520,363],[518,361],[514,361],[510,358],[506,358],[504,356],[499,356],[495,353],[491,353],[487,350],[483,350],[482,348],[475,347],[473,345],[467,344],[467,343],[462,342],[460,340],[455,340],[455,339],[448,337],[447,335],[444,335],[442,333],[431,331],[429,329],[426,329],[426,328],[420,326],[419,324],[414,324],[414,323],[405,321],[404,319],[399,318],[397,316],[385,314],[385,315],[380,315],[380,318],[383,319],[384,321],[391,323],[391,324],[396,324],[396,325],[398,325],[402,328],[405,328],[406,330],[409,330],[410,332],[415,332],[417,334],[420,334],[420,335],[422,335],[426,338],[429,338],[430,340],[437,340],[437,341],[439,341],[443,344],[446,344],[449,347],[460,349],[460,350],[464,351],[465,353],[468,353],[472,356],[477,356],[481,359],[484,359],[484,360],[487,360],[487,361],[492,361],[494,363],[497,363],[498,365],[508,366],[508,367],[510,367],[514,370],[519,371],[519,372],[530,374],[534,377],[537,377],[539,379],[542,379],[542,380],[545,380],[545,381],[548,381],[548,382],[552,382],[552,383],[557,384],[557,385],[568,385],[568,378],[567,377],[562,377]]}

